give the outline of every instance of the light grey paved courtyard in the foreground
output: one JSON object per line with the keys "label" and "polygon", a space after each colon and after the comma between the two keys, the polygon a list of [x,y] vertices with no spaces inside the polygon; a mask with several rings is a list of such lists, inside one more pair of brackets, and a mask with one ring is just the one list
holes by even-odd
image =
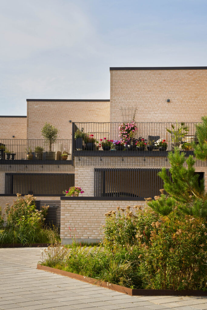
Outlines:
{"label": "light grey paved courtyard in the foreground", "polygon": [[132,297],[37,270],[40,248],[0,249],[0,309],[205,310],[205,297]]}

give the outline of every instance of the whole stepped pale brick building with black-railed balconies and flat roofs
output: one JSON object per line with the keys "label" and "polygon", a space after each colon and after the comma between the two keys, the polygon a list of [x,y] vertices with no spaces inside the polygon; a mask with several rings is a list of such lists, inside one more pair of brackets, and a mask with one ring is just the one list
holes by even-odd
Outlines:
{"label": "whole stepped pale brick building with black-railed balconies and flat roofs", "polygon": [[[0,205],[11,203],[16,192],[33,193],[41,202],[58,202],[62,190],[80,186],[85,191],[81,197],[61,197],[62,242],[71,242],[69,225],[76,228],[77,240],[100,240],[106,211],[117,205],[144,205],[144,197],[158,194],[162,181],[157,172],[169,168],[167,154],[181,122],[187,131],[179,133],[178,146],[186,156],[193,153],[182,145],[196,139],[195,123],[207,114],[206,84],[207,67],[110,68],[110,100],[28,99],[27,117],[0,117],[0,145],[16,154],[13,160],[0,160]],[[120,124],[133,120],[137,130],[124,150],[103,150],[98,143],[77,150],[77,129],[93,134],[97,141],[120,140]],[[36,146],[48,151],[41,136],[45,122],[59,130],[53,160],[44,155],[35,159]],[[171,124],[174,136],[167,131]],[[134,145],[140,136],[153,144],[166,139],[168,148],[160,151],[153,145],[154,149],[140,151]],[[28,147],[32,160],[26,157]],[[60,157],[64,151],[69,154],[66,161]],[[195,168],[205,178],[206,163],[197,161]]]}

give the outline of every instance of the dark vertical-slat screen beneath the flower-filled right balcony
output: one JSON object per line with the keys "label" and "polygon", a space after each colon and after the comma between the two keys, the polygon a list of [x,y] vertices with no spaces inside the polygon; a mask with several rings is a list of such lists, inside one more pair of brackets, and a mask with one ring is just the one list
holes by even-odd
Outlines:
{"label": "dark vertical-slat screen beneath the flower-filled right balcony", "polygon": [[[95,197],[154,197],[160,194],[161,169],[95,168]],[[167,169],[167,174],[170,172]]]}

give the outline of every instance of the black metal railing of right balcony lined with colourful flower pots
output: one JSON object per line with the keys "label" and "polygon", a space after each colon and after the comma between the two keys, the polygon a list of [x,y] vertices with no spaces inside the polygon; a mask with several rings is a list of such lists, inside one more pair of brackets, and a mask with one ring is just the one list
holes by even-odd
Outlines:
{"label": "black metal railing of right balcony lined with colourful flower pots", "polygon": [[193,141],[197,143],[196,124],[198,123],[73,123],[73,154],[74,156],[166,156],[168,151],[178,147],[180,151],[189,155],[193,153]]}

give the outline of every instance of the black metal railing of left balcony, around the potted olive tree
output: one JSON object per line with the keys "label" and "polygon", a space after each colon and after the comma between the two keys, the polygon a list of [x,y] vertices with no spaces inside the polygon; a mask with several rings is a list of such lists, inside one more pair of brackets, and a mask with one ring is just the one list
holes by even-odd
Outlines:
{"label": "black metal railing of left balcony, around the potted olive tree", "polygon": [[[63,153],[68,156],[61,157]],[[44,139],[0,139],[0,159],[4,160],[71,161],[71,154],[71,139],[58,139],[51,149]]]}

